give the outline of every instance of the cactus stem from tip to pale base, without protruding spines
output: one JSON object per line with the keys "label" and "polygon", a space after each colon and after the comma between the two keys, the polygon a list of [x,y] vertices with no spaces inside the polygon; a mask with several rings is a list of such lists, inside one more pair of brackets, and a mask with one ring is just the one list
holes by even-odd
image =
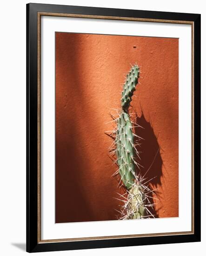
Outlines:
{"label": "cactus stem from tip to pale base, without protruding spines", "polygon": [[134,160],[134,134],[128,113],[139,76],[140,68],[137,65],[134,65],[126,75],[121,98],[122,110],[117,120],[115,136],[119,174],[121,181],[128,191],[128,197],[125,203],[126,219],[140,219],[145,216],[144,201],[146,197],[139,177],[135,173],[135,164],[137,163]]}

